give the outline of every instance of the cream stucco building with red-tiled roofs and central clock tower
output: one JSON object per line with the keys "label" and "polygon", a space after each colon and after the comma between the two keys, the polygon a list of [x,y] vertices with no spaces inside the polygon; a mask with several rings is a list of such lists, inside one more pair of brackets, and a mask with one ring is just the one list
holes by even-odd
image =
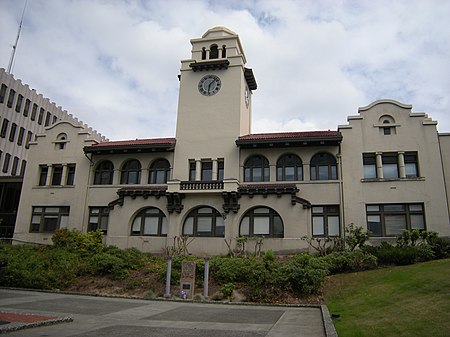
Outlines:
{"label": "cream stucco building with red-tiled roofs and central clock tower", "polygon": [[30,143],[16,239],[101,229],[120,248],[214,255],[242,236],[250,250],[307,249],[302,237],[349,223],[380,239],[450,235],[450,137],[426,114],[381,100],[336,131],[252,134],[257,83],[238,35],[215,27],[191,44],[175,138],[107,142],[62,121]]}

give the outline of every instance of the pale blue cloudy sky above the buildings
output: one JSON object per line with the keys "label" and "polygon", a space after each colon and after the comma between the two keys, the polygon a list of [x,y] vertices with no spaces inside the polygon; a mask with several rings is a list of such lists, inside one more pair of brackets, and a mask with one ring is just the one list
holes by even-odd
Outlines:
{"label": "pale blue cloudy sky above the buildings", "polygon": [[[7,68],[26,0],[0,0]],[[450,0],[28,0],[12,73],[110,140],[175,137],[190,39],[236,32],[252,133],[337,130],[378,99],[450,132]]]}

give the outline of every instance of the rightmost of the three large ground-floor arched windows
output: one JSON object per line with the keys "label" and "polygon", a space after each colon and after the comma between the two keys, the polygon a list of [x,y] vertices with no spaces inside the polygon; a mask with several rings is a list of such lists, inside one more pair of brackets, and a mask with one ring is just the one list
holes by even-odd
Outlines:
{"label": "rightmost of the three large ground-floor arched windows", "polygon": [[284,226],[277,212],[268,207],[256,207],[247,211],[241,220],[240,236],[264,236],[282,238]]}

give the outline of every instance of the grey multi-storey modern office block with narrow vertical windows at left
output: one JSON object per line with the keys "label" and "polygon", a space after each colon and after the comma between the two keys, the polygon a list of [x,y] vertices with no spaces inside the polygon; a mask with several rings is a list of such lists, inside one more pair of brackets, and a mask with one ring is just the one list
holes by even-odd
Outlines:
{"label": "grey multi-storey modern office block with narrow vertical windows at left", "polygon": [[62,120],[81,123],[0,68],[0,237],[14,232],[30,142]]}

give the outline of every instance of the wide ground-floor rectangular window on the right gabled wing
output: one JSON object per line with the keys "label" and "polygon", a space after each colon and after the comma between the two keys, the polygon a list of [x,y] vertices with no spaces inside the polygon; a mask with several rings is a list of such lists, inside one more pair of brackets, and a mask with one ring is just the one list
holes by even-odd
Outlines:
{"label": "wide ground-floor rectangular window on the right gabled wing", "polygon": [[425,229],[423,204],[366,205],[372,236],[398,236],[404,230]]}

